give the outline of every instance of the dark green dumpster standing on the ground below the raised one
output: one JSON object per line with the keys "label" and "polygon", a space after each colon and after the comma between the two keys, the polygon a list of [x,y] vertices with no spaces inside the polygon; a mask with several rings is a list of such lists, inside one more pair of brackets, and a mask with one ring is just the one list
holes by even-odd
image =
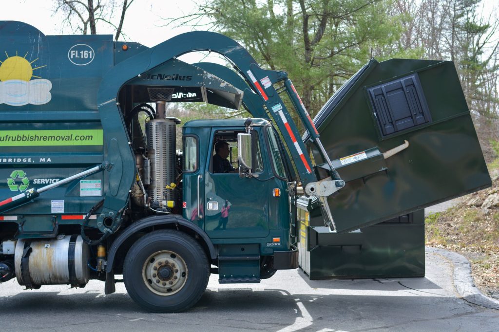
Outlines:
{"label": "dark green dumpster standing on the ground below the raised one", "polygon": [[298,207],[299,265],[310,279],[424,277],[424,210],[338,234]]}

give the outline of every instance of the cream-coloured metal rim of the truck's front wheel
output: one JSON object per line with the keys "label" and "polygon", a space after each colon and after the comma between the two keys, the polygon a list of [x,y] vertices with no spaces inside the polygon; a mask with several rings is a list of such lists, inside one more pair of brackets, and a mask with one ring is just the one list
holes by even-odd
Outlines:
{"label": "cream-coloured metal rim of the truck's front wheel", "polygon": [[142,278],[149,290],[161,296],[179,292],[187,281],[187,265],[173,251],[158,251],[149,256],[142,267]]}

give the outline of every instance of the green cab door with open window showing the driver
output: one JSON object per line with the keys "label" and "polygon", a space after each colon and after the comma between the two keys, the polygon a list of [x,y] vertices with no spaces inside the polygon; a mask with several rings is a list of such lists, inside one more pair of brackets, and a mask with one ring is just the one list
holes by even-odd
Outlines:
{"label": "green cab door with open window showing the driver", "polygon": [[[239,176],[237,164],[237,134],[241,130],[213,130],[211,149],[204,176],[205,231],[211,238],[259,238],[269,233],[268,169],[264,167],[259,131],[253,130],[256,145],[254,177]],[[222,147],[224,152],[215,151]],[[232,160],[227,159],[233,151]],[[237,148],[236,148],[237,149]],[[217,156],[218,155],[218,156]],[[220,166],[225,159],[225,168]],[[217,161],[218,159],[218,161]],[[229,164],[230,163],[230,164]]]}

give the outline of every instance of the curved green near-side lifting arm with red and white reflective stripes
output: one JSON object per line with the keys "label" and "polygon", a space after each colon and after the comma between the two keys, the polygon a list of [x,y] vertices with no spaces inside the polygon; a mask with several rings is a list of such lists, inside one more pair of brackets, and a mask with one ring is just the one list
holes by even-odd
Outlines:
{"label": "curved green near-side lifting arm with red and white reflective stripes", "polygon": [[[253,116],[261,117],[262,115],[269,114],[270,117],[272,117],[276,126],[282,133],[285,144],[288,147],[296,166],[302,186],[305,187],[305,192],[307,194],[325,197],[344,185],[344,182],[339,179],[338,173],[332,167],[332,164],[320,143],[319,135],[315,130],[313,123],[302,106],[291,81],[287,78],[287,73],[260,68],[243,46],[229,37],[214,32],[194,31],[178,35],[118,63],[109,70],[103,77],[97,96],[97,104],[103,120],[103,126],[116,127],[117,124],[122,121],[119,105],[117,104],[117,94],[123,85],[140,77],[141,74],[144,74],[171,59],[175,59],[180,55],[202,50],[216,52],[225,56],[234,64],[236,70],[238,70],[248,82],[252,91],[249,92],[247,89],[245,93],[259,96],[260,102],[257,102],[257,98],[250,98],[254,103],[251,107],[247,108],[250,112],[254,110],[254,114],[252,113]],[[212,74],[216,75],[216,73]],[[296,125],[274,88],[274,84],[279,82],[284,83],[283,90],[287,91],[289,94],[299,118],[310,133],[313,142],[317,145],[319,151],[324,155],[324,159],[329,161],[328,165],[330,166],[331,178],[321,179],[320,182],[317,182],[319,179],[314,172],[311,159],[306,153],[305,145],[300,138],[301,136],[298,133]],[[118,129],[119,128],[109,128],[108,132],[117,132]],[[126,133],[117,133],[117,135],[118,134],[126,135]],[[111,155],[118,151],[120,154],[126,153],[127,150],[130,151],[127,142],[118,137],[116,137],[116,141],[106,142],[105,144],[106,147],[112,145],[114,145],[113,151],[106,151],[110,158],[112,158]],[[131,151],[130,155],[133,156]],[[129,159],[133,160],[133,158]],[[128,160],[128,158],[126,160]],[[123,169],[126,167],[127,166],[123,165]],[[113,171],[116,170],[112,170],[110,176],[113,176]],[[130,181],[133,181],[132,177],[130,177]],[[121,190],[120,187],[113,195],[114,197],[110,197],[111,199],[109,200],[106,199],[106,202],[104,203],[104,213],[118,210],[117,204],[108,205],[107,202],[114,201],[118,203],[119,201],[125,201],[126,196],[128,195],[128,188],[126,188],[125,192],[125,187],[126,186],[123,186],[123,190]]]}

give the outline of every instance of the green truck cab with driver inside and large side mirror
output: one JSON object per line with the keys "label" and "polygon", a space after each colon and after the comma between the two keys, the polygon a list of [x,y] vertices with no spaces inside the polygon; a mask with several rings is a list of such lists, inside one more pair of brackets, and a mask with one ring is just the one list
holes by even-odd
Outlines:
{"label": "green truck cab with driver inside and large side mirror", "polygon": [[[229,145],[228,158],[235,170],[214,169],[218,142]],[[255,269],[246,274],[239,269],[226,272],[226,264],[222,263],[221,282],[229,278],[259,281],[265,277],[260,275],[261,265],[270,262],[273,266],[276,252],[279,262],[289,262],[289,266],[279,263],[277,268],[296,267],[297,251],[291,245],[294,238],[290,233],[294,182],[269,120],[187,122],[183,127],[183,160],[184,218],[202,228],[225,253],[219,261],[223,262],[227,255],[232,257],[233,265],[238,257],[242,261],[251,256],[260,260],[260,265],[254,265]],[[253,249],[239,248],[242,244]]]}

